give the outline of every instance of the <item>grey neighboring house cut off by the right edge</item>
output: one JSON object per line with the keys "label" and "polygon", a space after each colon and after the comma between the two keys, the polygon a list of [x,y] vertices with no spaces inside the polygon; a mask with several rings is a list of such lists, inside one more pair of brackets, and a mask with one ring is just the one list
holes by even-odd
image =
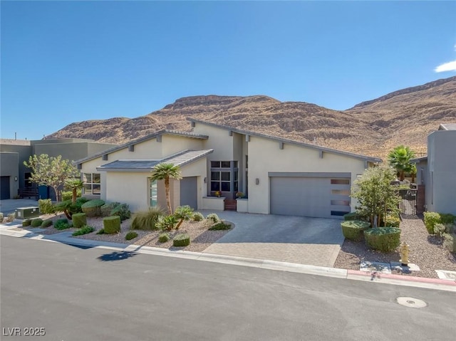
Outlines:
{"label": "grey neighboring house cut off by the right edge", "polygon": [[427,157],[411,161],[425,188],[425,211],[456,214],[456,123],[440,125],[427,136]]}

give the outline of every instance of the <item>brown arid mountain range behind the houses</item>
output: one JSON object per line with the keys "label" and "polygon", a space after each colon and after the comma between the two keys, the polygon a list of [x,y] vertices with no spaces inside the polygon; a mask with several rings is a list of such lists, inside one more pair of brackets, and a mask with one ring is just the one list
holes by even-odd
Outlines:
{"label": "brown arid mountain range behind the houses", "polygon": [[46,139],[122,143],[164,128],[189,131],[187,117],[375,157],[385,157],[400,144],[420,155],[426,152],[430,132],[440,123],[456,122],[456,76],[398,90],[348,110],[280,102],[264,95],[185,97],[132,119],[71,123]]}

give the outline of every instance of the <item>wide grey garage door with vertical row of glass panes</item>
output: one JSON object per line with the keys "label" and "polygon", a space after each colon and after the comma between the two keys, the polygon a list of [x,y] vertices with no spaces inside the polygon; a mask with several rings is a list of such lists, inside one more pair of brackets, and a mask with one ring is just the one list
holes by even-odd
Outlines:
{"label": "wide grey garage door with vertical row of glass panes", "polygon": [[342,218],[350,208],[350,173],[269,173],[270,212]]}

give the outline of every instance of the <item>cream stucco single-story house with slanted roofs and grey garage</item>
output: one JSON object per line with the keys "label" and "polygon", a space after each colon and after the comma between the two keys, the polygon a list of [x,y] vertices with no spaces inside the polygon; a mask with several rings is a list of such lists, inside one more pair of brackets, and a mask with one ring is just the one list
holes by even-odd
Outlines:
{"label": "cream stucco single-story house with slanted roofs and grey garage", "polygon": [[[374,157],[286,140],[224,125],[190,120],[192,132],[162,130],[76,161],[84,196],[120,201],[132,211],[166,207],[162,182],[151,182],[155,164],[179,164],[171,181],[172,207],[224,209],[243,192],[238,211],[341,217],[354,209],[350,189]],[[222,198],[214,196],[222,192]]]}

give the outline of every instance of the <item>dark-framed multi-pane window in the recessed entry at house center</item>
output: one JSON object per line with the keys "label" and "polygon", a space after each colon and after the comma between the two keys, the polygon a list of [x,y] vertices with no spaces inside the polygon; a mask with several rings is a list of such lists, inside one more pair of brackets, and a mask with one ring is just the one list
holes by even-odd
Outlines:
{"label": "dark-framed multi-pane window in the recessed entry at house center", "polygon": [[237,192],[239,178],[237,161],[211,161],[210,192]]}

